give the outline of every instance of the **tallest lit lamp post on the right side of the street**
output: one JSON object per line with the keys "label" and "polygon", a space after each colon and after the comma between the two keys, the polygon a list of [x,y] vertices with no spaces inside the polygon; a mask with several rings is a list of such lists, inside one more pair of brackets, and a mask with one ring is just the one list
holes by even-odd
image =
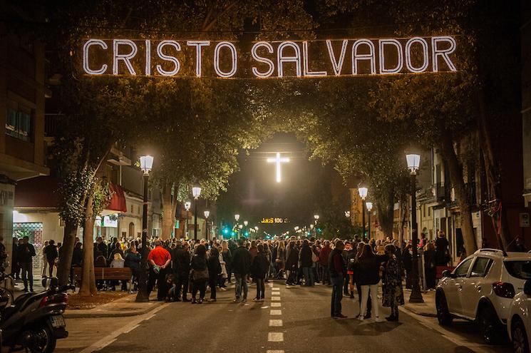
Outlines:
{"label": "tallest lit lamp post on the right side of the street", "polygon": [[411,175],[411,249],[413,250],[413,263],[411,270],[411,295],[409,296],[409,302],[422,303],[424,302],[421,293],[421,286],[418,284],[418,233],[417,233],[417,196],[416,196],[416,176],[418,165],[421,164],[421,155],[418,153],[406,154],[406,160],[408,162],[408,169]]}

